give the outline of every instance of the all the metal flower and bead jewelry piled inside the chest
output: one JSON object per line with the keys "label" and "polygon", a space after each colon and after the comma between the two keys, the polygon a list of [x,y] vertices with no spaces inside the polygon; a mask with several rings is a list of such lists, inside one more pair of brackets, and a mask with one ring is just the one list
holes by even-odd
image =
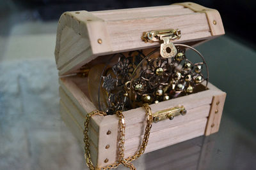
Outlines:
{"label": "all the metal flower and bead jewelry piled inside the chest", "polygon": [[[88,73],[93,104],[112,115],[116,111],[138,108],[144,103],[159,103],[192,94],[204,81],[206,89],[209,73],[202,54],[188,45],[174,46],[177,52],[169,58],[162,57],[159,48],[155,48],[147,55],[143,50],[116,53],[106,64],[93,66]],[[188,59],[188,49],[200,56],[200,62]],[[98,83],[90,80],[95,80],[95,77]]]}

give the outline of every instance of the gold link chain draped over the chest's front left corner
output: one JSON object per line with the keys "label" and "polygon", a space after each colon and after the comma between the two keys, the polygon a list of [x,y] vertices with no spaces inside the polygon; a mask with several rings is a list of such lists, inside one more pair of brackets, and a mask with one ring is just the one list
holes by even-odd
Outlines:
{"label": "gold link chain draped over the chest's front left corner", "polygon": [[150,134],[150,129],[152,127],[152,122],[153,122],[153,116],[151,112],[151,108],[148,106],[148,104],[143,104],[143,108],[146,111],[146,117],[147,117],[147,125],[145,127],[145,134],[140,146],[140,149],[131,157],[128,157],[124,159],[124,139],[125,139],[125,122],[124,122],[124,115],[122,114],[122,111],[116,111],[116,116],[118,117],[118,124],[119,124],[119,141],[118,141],[118,147],[119,147],[119,157],[118,160],[113,163],[109,164],[108,166],[104,167],[95,167],[92,163],[91,155],[90,155],[90,143],[89,143],[89,136],[88,136],[88,127],[89,127],[89,122],[90,119],[94,115],[103,115],[106,116],[106,112],[104,111],[92,111],[88,113],[85,117],[84,120],[84,157],[86,159],[86,164],[89,167],[89,169],[96,170],[96,169],[112,169],[118,167],[120,164],[123,164],[126,167],[129,167],[130,169],[136,169],[134,165],[131,163],[132,160],[138,159],[144,152],[145,148],[148,144],[148,138]]}

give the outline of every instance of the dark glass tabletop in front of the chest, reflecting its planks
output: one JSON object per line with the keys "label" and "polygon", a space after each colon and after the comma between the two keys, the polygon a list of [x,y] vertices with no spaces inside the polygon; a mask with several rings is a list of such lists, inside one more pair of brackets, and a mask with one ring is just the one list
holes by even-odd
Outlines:
{"label": "dark glass tabletop in front of the chest, reflecting its planks", "polygon": [[[223,113],[220,131],[146,153],[138,169],[256,169],[256,139]],[[125,169],[124,167],[120,169]]]}

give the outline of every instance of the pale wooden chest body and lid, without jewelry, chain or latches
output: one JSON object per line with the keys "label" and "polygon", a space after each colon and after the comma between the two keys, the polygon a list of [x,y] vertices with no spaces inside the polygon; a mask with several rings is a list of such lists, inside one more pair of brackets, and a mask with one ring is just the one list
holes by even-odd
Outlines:
{"label": "pale wooden chest body and lid, without jewelry, chain or latches", "polygon": [[[56,38],[56,64],[60,75],[60,113],[84,146],[84,117],[95,110],[88,97],[87,79],[79,76],[84,64],[106,62],[109,54],[148,49],[159,43],[145,43],[145,31],[179,28],[180,39],[173,43],[196,46],[225,34],[218,11],[195,3],[109,11],[71,11],[61,15]],[[77,74],[78,73],[78,74]],[[152,112],[182,104],[186,116],[152,124],[145,153],[217,132],[225,102],[225,92],[211,83],[208,89],[188,96],[151,104]],[[145,129],[143,108],[124,111],[125,156],[134,154]],[[118,118],[95,116],[90,122],[92,162],[103,167],[118,158]],[[106,146],[109,147],[106,147]]]}

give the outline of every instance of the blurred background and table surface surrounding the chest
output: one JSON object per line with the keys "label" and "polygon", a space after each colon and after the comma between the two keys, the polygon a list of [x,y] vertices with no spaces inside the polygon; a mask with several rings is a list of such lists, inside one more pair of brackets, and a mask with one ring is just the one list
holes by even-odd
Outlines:
{"label": "blurred background and table surface surrounding the chest", "polygon": [[[61,13],[179,2],[0,0],[0,169],[85,169],[83,150],[59,115],[54,48]],[[256,169],[256,1],[193,2],[220,11],[226,31],[196,47],[211,83],[227,92],[220,132],[148,153],[136,164],[154,169],[146,165],[157,154],[165,165],[158,169]]]}

